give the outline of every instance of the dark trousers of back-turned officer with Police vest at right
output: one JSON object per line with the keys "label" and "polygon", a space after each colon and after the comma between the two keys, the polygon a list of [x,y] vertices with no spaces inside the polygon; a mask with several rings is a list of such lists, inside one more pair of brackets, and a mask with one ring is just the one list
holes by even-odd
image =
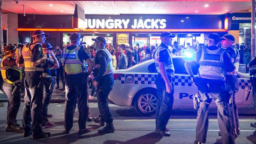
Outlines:
{"label": "dark trousers of back-turned officer with Police vest at right", "polygon": [[198,79],[198,94],[200,108],[197,112],[196,141],[206,143],[208,131],[208,107],[215,101],[218,111],[217,119],[222,135],[223,144],[234,144],[234,130],[232,129],[231,117],[228,106],[228,92],[224,81],[212,79]]}

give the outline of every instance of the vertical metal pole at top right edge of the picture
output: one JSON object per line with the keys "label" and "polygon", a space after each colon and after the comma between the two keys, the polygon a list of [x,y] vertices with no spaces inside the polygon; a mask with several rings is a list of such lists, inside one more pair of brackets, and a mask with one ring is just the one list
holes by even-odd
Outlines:
{"label": "vertical metal pole at top right edge of the picture", "polygon": [[252,0],[252,21],[251,21],[251,52],[252,58],[255,56],[255,0]]}

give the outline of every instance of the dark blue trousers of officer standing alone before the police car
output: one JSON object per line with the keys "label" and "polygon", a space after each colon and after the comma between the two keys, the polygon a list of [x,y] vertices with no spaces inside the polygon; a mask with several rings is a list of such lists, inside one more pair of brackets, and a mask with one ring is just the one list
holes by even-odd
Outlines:
{"label": "dark blue trousers of officer standing alone before the police car", "polygon": [[159,129],[160,131],[165,131],[165,127],[169,121],[171,110],[173,108],[174,85],[171,77],[169,78],[169,81],[173,87],[171,93],[166,92],[165,81],[161,74],[158,74],[155,81],[157,88],[156,129]]}

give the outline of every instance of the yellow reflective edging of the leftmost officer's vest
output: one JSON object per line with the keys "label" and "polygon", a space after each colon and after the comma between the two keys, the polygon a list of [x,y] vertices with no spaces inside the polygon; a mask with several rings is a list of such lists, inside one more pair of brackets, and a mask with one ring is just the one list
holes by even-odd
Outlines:
{"label": "yellow reflective edging of the leftmost officer's vest", "polygon": [[[3,77],[3,80],[9,84],[14,84],[14,83],[19,83],[19,82],[22,82],[22,71],[19,69],[18,66],[4,66],[3,65],[3,62],[5,59],[7,59],[8,57],[4,56],[3,59],[2,59],[2,62],[1,62],[1,74],[2,74],[2,77]],[[9,79],[7,79],[7,76],[6,76],[6,70],[7,69],[13,69],[13,70],[17,70],[20,74],[19,76],[19,79],[16,80],[16,81],[11,81]]]}

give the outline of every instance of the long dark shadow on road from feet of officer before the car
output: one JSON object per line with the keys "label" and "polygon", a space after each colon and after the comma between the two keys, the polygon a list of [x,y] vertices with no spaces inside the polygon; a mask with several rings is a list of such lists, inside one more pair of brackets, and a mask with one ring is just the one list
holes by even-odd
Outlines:
{"label": "long dark shadow on road from feet of officer before the car", "polygon": [[156,144],[162,138],[163,136],[155,132],[152,132],[152,133],[148,133],[147,135],[143,135],[141,137],[127,140],[125,142],[122,142],[119,140],[106,140],[103,144]]}

